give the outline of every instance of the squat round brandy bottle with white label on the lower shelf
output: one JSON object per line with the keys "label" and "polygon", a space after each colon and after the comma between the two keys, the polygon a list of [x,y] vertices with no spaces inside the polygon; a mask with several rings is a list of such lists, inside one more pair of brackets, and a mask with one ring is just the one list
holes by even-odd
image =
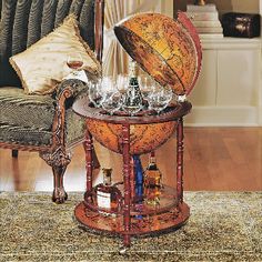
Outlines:
{"label": "squat round brandy bottle with white label on the lower shelf", "polygon": [[102,169],[102,171],[103,183],[100,183],[94,188],[94,193],[97,195],[97,205],[99,209],[103,210],[100,213],[117,213],[121,209],[122,194],[120,190],[112,184],[112,169]]}

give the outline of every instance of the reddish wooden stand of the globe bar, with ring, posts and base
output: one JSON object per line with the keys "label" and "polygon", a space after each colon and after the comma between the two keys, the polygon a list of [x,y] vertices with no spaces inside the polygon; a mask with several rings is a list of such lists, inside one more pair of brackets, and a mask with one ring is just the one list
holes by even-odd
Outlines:
{"label": "reddish wooden stand of the globe bar, with ring, posts and base", "polygon": [[[87,192],[84,201],[75,206],[75,219],[88,229],[95,232],[118,234],[123,238],[123,245],[130,246],[131,236],[158,234],[180,228],[190,215],[188,204],[183,202],[183,117],[191,110],[188,101],[169,107],[160,115],[141,113],[137,117],[109,115],[101,109],[90,107],[88,97],[78,99],[73,110],[79,115],[98,121],[121,124],[122,158],[123,158],[123,205],[122,210],[112,215],[104,215],[103,210],[90,202],[89,195],[93,190],[92,135],[87,130],[84,149],[87,161]],[[178,122],[177,125],[177,189],[167,185],[160,196],[160,205],[150,206],[145,202],[133,202],[134,181],[131,172],[130,127],[135,124]]]}

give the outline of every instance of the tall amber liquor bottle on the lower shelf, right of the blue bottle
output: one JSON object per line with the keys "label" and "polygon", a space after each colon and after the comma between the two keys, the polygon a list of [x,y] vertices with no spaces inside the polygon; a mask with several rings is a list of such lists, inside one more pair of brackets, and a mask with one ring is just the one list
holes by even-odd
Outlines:
{"label": "tall amber liquor bottle on the lower shelf, right of the blue bottle", "polygon": [[143,173],[144,196],[147,203],[159,204],[162,188],[162,174],[157,165],[154,152],[151,152],[149,165]]}

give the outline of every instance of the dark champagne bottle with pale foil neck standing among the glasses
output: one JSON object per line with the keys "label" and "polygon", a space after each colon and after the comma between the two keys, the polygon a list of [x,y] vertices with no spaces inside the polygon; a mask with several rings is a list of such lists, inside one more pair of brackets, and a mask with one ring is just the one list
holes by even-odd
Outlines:
{"label": "dark champagne bottle with pale foil neck standing among the glasses", "polygon": [[129,114],[135,114],[143,108],[143,97],[139,88],[138,68],[134,61],[129,63],[129,87],[122,105]]}

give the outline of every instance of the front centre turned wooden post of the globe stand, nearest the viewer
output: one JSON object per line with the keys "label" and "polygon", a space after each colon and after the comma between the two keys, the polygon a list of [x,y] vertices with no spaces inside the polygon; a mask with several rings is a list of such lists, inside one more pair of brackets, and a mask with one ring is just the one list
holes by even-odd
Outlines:
{"label": "front centre turned wooden post of the globe stand, nearest the viewer", "polygon": [[124,246],[130,246],[130,226],[131,226],[131,218],[130,218],[130,198],[131,198],[131,188],[130,188],[130,173],[131,173],[131,155],[130,155],[130,125],[122,125],[122,135],[123,135],[123,183],[124,183],[124,203],[123,203],[123,244]]}

